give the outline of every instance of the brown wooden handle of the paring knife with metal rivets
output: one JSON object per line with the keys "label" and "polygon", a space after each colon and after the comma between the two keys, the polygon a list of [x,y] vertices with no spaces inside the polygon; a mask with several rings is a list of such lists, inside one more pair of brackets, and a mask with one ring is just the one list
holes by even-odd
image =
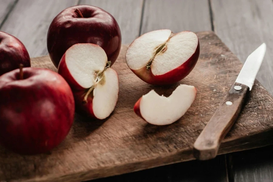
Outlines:
{"label": "brown wooden handle of the paring knife with metal rivets", "polygon": [[236,82],[232,84],[223,102],[195,141],[195,158],[208,160],[216,157],[221,141],[237,119],[248,93],[248,86]]}

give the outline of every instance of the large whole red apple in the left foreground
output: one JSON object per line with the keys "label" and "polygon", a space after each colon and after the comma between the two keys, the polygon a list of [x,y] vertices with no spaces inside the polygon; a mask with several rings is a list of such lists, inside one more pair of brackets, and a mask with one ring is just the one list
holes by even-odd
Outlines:
{"label": "large whole red apple in the left foreground", "polygon": [[72,91],[58,73],[23,68],[0,76],[0,143],[20,154],[45,153],[59,145],[74,118]]}

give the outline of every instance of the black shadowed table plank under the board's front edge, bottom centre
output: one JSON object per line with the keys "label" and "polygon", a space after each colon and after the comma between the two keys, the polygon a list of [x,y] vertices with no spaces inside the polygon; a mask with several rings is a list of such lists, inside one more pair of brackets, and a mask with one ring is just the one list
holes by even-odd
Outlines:
{"label": "black shadowed table plank under the board's front edge, bottom centre", "polygon": [[222,158],[224,158],[224,156],[220,155],[214,160],[209,161],[194,160],[171,164],[129,174],[92,180],[92,182],[227,182],[225,163]]}

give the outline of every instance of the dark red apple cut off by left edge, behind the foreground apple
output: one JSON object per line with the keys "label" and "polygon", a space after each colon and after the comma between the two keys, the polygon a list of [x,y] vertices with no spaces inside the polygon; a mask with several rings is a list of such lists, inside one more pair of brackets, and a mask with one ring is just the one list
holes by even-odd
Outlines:
{"label": "dark red apple cut off by left edge, behind the foreground apple", "polygon": [[30,67],[30,58],[25,45],[16,37],[0,31],[0,76],[18,69],[19,65]]}

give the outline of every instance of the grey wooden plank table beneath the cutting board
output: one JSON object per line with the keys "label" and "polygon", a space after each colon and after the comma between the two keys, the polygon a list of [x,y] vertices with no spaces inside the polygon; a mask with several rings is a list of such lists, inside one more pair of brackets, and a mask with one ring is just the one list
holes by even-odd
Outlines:
{"label": "grey wooden plank table beneath the cutting board", "polygon": [[[211,30],[244,62],[265,42],[267,52],[257,78],[273,93],[272,0],[0,0],[0,31],[19,38],[31,57],[47,55],[46,34],[52,19],[78,4],[110,12],[120,25],[123,44],[156,29]],[[94,181],[267,182],[273,181],[272,152],[273,146],[267,146]]]}

